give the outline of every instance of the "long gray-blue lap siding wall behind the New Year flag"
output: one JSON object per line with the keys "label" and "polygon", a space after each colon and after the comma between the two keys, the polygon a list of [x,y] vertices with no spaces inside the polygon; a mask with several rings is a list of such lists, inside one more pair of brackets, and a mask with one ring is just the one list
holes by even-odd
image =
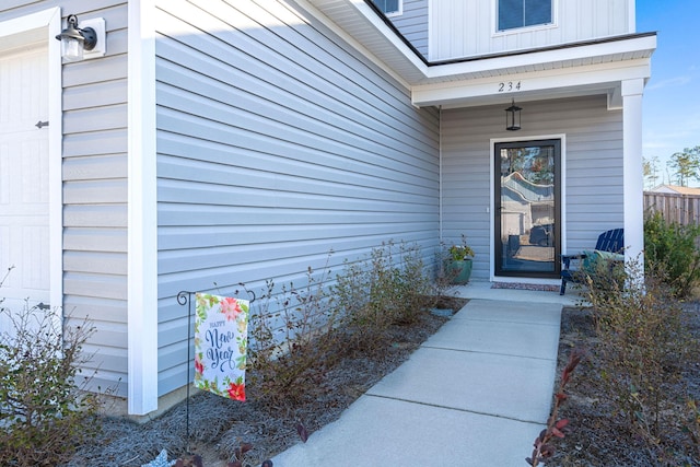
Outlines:
{"label": "long gray-blue lap siding wall behind the New Year flag", "polygon": [[161,1],[154,20],[164,395],[187,381],[178,291],[301,284],[330,249],[339,271],[388,240],[431,258],[439,122],[284,1]]}

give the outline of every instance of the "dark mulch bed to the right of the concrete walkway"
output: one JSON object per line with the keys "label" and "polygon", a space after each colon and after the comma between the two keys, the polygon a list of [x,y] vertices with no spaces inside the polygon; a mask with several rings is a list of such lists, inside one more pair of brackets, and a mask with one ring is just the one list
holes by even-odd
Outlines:
{"label": "dark mulch bed to the right of the concrete walkway", "polygon": [[[691,331],[696,345],[700,339],[700,304],[684,304],[686,326]],[[586,467],[646,467],[646,466],[700,466],[700,445],[691,441],[684,432],[687,421],[685,396],[700,400],[700,363],[697,360],[685,362],[684,382],[675,387],[677,394],[669,398],[679,400],[675,406],[678,420],[673,431],[664,433],[663,448],[670,462],[658,462],[634,433],[632,424],[620,413],[616,413],[609,397],[602,389],[603,369],[596,360],[596,336],[590,310],[564,307],[561,318],[559,340],[558,373],[567,364],[574,348],[586,350],[587,358],[576,367],[570,384],[565,388],[569,399],[562,406],[561,418],[570,420],[564,439],[555,442],[557,454],[546,465],[586,466]]]}

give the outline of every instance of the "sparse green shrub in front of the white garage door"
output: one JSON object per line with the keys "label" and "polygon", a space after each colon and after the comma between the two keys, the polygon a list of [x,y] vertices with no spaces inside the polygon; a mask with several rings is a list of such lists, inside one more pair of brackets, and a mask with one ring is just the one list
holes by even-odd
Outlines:
{"label": "sparse green shrub in front of the white garage door", "polygon": [[93,329],[63,328],[59,310],[0,313],[13,324],[0,335],[0,465],[56,466],[95,433],[96,398],[75,384]]}

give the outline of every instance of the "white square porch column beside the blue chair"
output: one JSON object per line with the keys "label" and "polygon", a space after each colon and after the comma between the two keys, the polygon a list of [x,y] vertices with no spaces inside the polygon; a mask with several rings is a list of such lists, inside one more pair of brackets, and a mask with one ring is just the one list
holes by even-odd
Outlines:
{"label": "white square porch column beside the blue chair", "polygon": [[642,170],[642,94],[644,80],[622,81],[622,188],[625,261],[644,261],[644,175]]}

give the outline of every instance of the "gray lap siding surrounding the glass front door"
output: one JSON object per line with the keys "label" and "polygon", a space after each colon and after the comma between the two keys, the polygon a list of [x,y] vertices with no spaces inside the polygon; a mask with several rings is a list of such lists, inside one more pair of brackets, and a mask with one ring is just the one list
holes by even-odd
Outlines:
{"label": "gray lap siding surrounding the glass front door", "polygon": [[568,250],[592,248],[600,232],[623,224],[622,113],[607,110],[604,95],[528,102],[523,107],[517,132],[504,129],[502,105],[442,113],[443,237],[467,235],[476,252],[475,278],[490,277],[491,138],[564,136]]}

